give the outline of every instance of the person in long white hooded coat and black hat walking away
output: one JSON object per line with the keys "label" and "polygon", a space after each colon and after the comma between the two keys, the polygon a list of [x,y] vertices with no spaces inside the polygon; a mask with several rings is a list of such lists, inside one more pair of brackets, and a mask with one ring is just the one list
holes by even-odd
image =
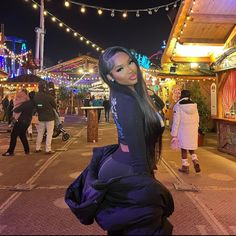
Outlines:
{"label": "person in long white hooded coat and black hat walking away", "polygon": [[182,90],[179,101],[175,104],[171,128],[172,142],[178,140],[181,148],[182,166],[179,171],[189,173],[187,152],[189,151],[196,172],[200,165],[195,150],[198,148],[199,114],[197,104],[190,99],[190,91]]}

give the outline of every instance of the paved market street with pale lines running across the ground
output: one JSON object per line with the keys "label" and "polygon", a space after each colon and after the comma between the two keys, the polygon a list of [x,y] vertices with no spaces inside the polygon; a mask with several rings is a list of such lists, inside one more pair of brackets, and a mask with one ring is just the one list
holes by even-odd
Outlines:
{"label": "paved market street with pale lines running across the ground", "polygon": [[[67,186],[89,163],[94,146],[116,143],[113,123],[101,122],[98,143],[87,143],[86,123],[68,117],[71,138],[53,139],[53,155],[24,155],[18,141],[14,157],[0,157],[1,235],[105,235],[96,223],[84,226],[64,203]],[[0,152],[6,151],[10,133],[0,125]],[[36,133],[30,141],[35,147]],[[236,158],[216,150],[216,135],[207,136],[197,154],[202,172],[178,173],[180,153],[169,148],[164,134],[162,161],[156,177],[172,192],[175,211],[170,217],[175,235],[236,234]]]}

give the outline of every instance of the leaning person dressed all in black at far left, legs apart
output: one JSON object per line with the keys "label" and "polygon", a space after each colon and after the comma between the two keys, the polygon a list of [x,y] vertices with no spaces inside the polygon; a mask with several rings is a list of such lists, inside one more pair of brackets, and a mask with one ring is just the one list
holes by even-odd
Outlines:
{"label": "leaning person dressed all in black at far left, legs apart", "polygon": [[23,144],[25,154],[30,153],[26,132],[31,123],[32,115],[35,110],[34,102],[32,100],[33,93],[33,91],[29,93],[30,100],[23,102],[20,106],[13,109],[15,113],[20,113],[20,116],[14,122],[9,148],[2,154],[2,156],[14,156],[18,136]]}

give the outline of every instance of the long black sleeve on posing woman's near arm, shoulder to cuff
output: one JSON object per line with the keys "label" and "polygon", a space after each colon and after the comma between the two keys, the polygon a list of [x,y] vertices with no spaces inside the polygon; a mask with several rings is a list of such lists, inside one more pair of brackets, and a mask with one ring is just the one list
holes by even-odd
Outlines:
{"label": "long black sleeve on posing woman's near arm, shoulder to cuff", "polygon": [[[144,133],[144,117],[136,100],[129,96],[117,99],[117,117],[123,136],[129,147],[133,160],[133,168],[137,172],[148,170],[146,160],[146,143]],[[145,163],[145,164],[144,164]],[[145,165],[145,166],[144,166]]]}

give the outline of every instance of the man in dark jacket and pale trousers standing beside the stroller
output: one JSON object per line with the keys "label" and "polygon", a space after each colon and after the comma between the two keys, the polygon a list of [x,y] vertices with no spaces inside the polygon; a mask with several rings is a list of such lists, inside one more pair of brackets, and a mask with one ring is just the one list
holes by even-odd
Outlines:
{"label": "man in dark jacket and pale trousers standing beside the stroller", "polygon": [[41,144],[43,140],[43,135],[46,130],[46,154],[52,154],[51,143],[52,135],[54,129],[54,120],[56,109],[56,102],[48,92],[47,84],[45,81],[40,81],[38,84],[39,92],[36,93],[34,97],[34,102],[36,105],[36,111],[38,113],[39,125],[38,125],[38,136],[36,139],[36,150],[35,152],[41,152]]}

